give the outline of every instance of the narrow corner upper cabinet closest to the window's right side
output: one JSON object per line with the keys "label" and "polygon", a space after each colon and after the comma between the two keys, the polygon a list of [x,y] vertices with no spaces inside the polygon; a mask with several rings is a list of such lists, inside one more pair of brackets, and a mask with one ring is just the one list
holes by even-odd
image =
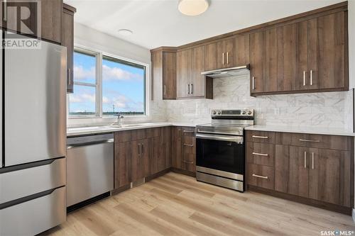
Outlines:
{"label": "narrow corner upper cabinet closest to the window's right side", "polygon": [[153,51],[151,61],[153,82],[162,84],[163,99],[176,99],[176,50]]}

